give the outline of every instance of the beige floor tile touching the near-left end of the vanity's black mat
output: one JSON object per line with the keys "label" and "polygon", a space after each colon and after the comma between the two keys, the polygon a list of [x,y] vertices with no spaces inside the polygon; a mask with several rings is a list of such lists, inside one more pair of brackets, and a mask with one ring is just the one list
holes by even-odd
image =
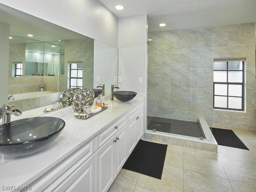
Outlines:
{"label": "beige floor tile touching the near-left end of the vanity's black mat", "polygon": [[126,169],[121,169],[119,174],[116,177],[116,180],[120,180],[132,185],[136,185],[138,178],[139,178],[140,174],[130,171],[130,170],[126,170]]}

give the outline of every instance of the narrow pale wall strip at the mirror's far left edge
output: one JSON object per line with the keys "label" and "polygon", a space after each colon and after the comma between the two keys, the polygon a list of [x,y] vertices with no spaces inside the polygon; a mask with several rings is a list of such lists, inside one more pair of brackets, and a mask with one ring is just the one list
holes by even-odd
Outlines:
{"label": "narrow pale wall strip at the mirror's far left edge", "polygon": [[0,22],[0,108],[2,104],[8,102],[8,66],[9,66],[9,33],[10,26],[7,23]]}

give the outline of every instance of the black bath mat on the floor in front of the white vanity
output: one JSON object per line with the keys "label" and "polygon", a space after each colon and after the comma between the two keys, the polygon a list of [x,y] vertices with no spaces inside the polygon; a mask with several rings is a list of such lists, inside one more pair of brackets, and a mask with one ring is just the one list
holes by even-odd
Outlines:
{"label": "black bath mat on the floor in front of the white vanity", "polygon": [[167,145],[139,140],[123,168],[161,179]]}

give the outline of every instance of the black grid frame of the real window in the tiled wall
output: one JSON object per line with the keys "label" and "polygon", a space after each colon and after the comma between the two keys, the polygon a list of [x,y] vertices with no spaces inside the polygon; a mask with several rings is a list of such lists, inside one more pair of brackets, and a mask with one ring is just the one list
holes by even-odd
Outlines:
{"label": "black grid frame of the real window in the tiled wall", "polygon": [[[228,62],[234,62],[234,61],[239,61],[242,62],[242,70],[229,70],[228,68]],[[246,101],[246,94],[245,94],[245,87],[246,87],[246,58],[218,58],[218,59],[213,59],[213,65],[214,62],[226,62],[226,70],[214,70],[214,66],[213,66],[213,73],[214,71],[224,71],[226,72],[226,82],[214,82],[213,79],[213,109],[219,109],[219,110],[229,110],[231,112],[245,112],[245,101]],[[228,72],[230,71],[241,71],[242,72],[242,82],[228,82]],[[215,94],[215,85],[216,84],[224,84],[227,85],[227,93],[226,95],[218,95]],[[242,95],[241,96],[230,96],[228,89],[229,89],[229,85],[241,85],[242,86]],[[223,107],[215,107],[215,96],[220,96],[220,97],[225,97],[227,100],[227,105],[226,108]],[[228,100],[229,98],[241,98],[241,109],[238,108],[229,108],[228,106]]]}

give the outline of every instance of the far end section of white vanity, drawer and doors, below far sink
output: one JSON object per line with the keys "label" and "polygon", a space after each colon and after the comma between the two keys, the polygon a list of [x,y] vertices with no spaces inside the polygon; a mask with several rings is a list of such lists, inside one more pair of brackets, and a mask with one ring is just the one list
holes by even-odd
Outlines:
{"label": "far end section of white vanity, drawer and doors, below far sink", "polygon": [[128,156],[143,135],[143,102],[128,112]]}

